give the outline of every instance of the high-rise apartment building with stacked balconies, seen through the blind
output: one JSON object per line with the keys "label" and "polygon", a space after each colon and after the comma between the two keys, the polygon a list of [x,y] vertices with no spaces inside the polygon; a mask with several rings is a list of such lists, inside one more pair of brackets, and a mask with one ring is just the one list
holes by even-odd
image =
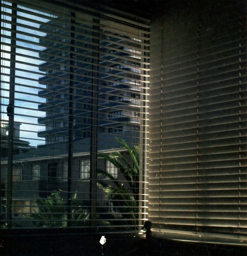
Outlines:
{"label": "high-rise apartment building with stacked balconies, seen through the blind", "polygon": [[[81,27],[76,18],[74,22],[75,26],[60,24],[56,17],[40,27],[48,32],[40,39],[45,47],[39,56],[45,61],[39,69],[45,75],[39,83],[45,89],[39,91],[39,97],[45,103],[39,104],[39,110],[45,116],[38,122],[45,128],[38,136],[46,144],[66,142],[69,136],[73,140],[90,138],[92,111],[98,116],[98,134],[139,131],[140,97],[146,83],[142,39],[131,27],[132,37],[120,35],[116,28],[105,31],[101,26],[107,26],[107,21],[94,31],[90,26]],[[98,39],[94,39],[96,34]],[[68,134],[69,123],[72,135]]]}

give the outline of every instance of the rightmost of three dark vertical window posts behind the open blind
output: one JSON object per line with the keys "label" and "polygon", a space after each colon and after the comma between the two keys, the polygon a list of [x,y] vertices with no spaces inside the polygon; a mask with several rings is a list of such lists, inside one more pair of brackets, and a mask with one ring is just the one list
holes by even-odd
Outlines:
{"label": "rightmost of three dark vertical window posts behind the open blind", "polygon": [[[94,19],[94,23],[99,24],[99,20]],[[94,25],[94,29],[99,31],[99,25]],[[93,33],[94,47],[93,52],[93,78],[92,78],[92,95],[91,95],[91,145],[90,145],[90,201],[91,201],[91,227],[96,227],[96,207],[97,207],[97,152],[98,152],[98,64],[99,64],[99,32]]]}

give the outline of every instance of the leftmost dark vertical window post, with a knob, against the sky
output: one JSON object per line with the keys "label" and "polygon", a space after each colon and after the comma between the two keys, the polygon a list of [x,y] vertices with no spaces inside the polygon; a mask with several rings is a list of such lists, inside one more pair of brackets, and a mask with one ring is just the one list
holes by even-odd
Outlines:
{"label": "leftmost dark vertical window post, with a knob, against the sky", "polygon": [[9,106],[7,114],[9,117],[8,134],[8,175],[7,175],[7,206],[6,223],[7,227],[12,227],[12,189],[13,189],[13,150],[14,150],[14,88],[15,88],[15,45],[16,45],[16,4],[12,4],[11,19],[11,49],[10,49],[10,85],[9,85]]}

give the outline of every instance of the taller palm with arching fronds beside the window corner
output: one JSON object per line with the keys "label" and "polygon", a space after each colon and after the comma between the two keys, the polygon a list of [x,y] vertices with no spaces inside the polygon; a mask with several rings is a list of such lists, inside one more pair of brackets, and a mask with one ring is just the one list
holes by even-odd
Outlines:
{"label": "taller palm with arching fronds beside the window corner", "polygon": [[127,150],[128,154],[113,151],[110,153],[99,153],[98,157],[106,159],[116,166],[123,177],[125,177],[126,182],[118,181],[112,174],[98,169],[98,176],[107,177],[108,180],[98,179],[97,185],[104,191],[104,199],[112,201],[114,206],[118,206],[119,213],[125,213],[124,218],[137,219],[139,199],[139,147],[129,146],[121,138],[116,139]]}

